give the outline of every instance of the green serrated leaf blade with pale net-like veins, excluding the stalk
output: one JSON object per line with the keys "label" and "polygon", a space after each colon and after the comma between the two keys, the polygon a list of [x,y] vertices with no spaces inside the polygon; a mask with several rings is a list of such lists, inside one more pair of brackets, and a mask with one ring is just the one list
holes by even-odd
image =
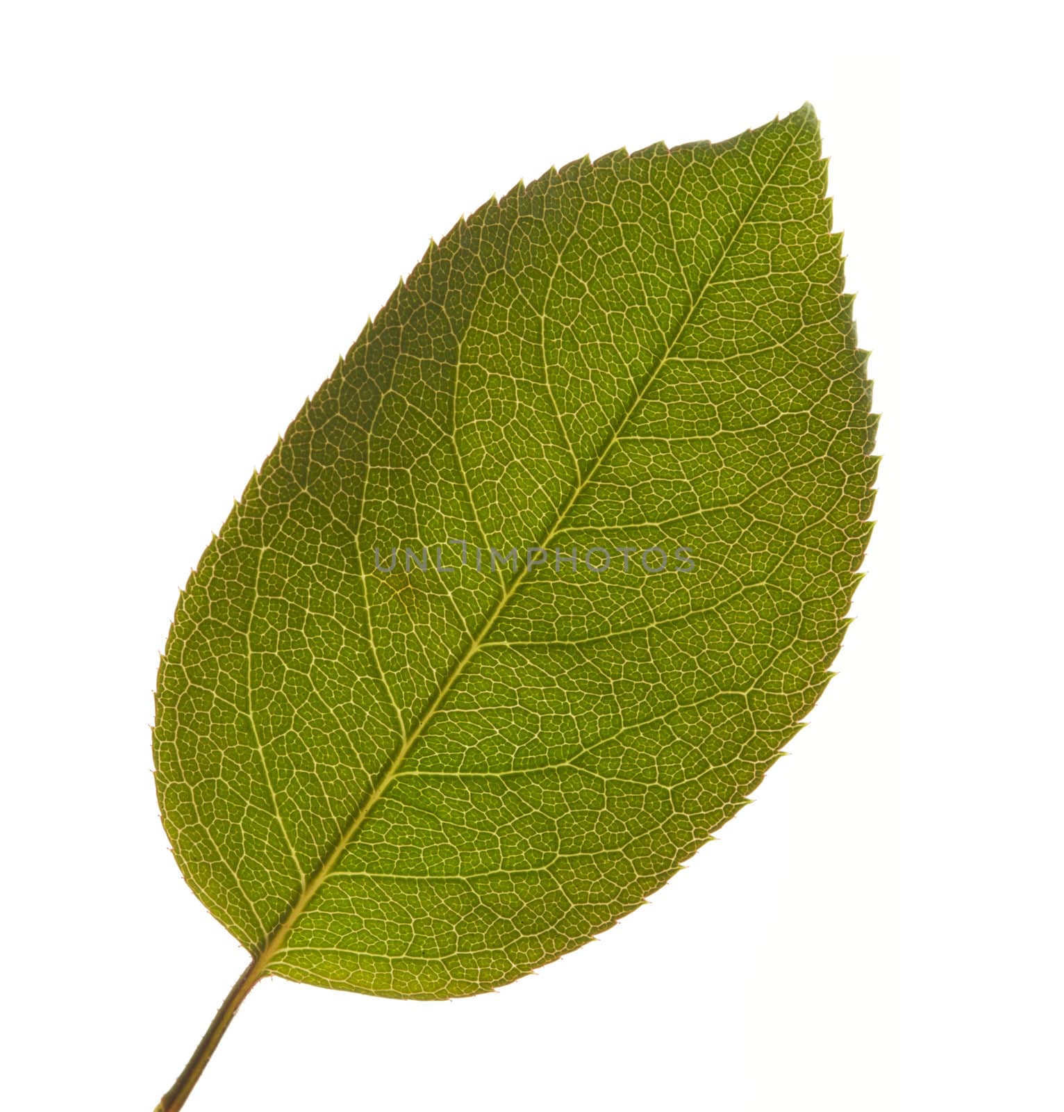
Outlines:
{"label": "green serrated leaf blade with pale net-like veins, excluding the stalk", "polygon": [[154,755],[252,982],[513,981],[639,906],[800,728],[875,470],[825,176],[806,106],[519,185],[251,479],[178,605]]}

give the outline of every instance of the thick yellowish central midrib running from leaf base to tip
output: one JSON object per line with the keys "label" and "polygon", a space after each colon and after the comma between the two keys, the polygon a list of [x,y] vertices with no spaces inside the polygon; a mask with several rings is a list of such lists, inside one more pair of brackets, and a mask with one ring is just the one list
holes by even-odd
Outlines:
{"label": "thick yellowish central midrib running from leaf base to tip", "polygon": [[[705,296],[706,290],[709,290],[710,287],[713,285],[717,271],[720,270],[725,259],[727,258],[727,252],[735,244],[735,240],[739,238],[742,230],[750,222],[750,219],[753,216],[757,205],[760,203],[761,198],[764,196],[765,190],[769,188],[776,172],[786,161],[786,158],[794,148],[794,145],[795,145],[795,137],[792,136],[791,141],[789,142],[786,149],[780,156],[779,161],[775,163],[775,166],[773,166],[771,172],[762,181],[756,196],[750,202],[750,205],[746,208],[746,211],[740,218],[739,224],[735,226],[735,230],[729,237],[727,242],[725,242],[724,246],[721,248],[721,254],[716,262],[713,265],[712,270],[710,271],[705,280],[702,282],[697,294],[695,294],[694,297],[691,299],[691,304],[687,307],[687,311],[684,314],[683,319],[676,326],[672,339],[670,339],[669,342],[665,345],[664,351],[662,353],[661,357],[656,360],[651,371],[644,378],[643,385],[633,395],[632,400],[629,403],[626,409],[624,410],[616,426],[612,429],[609,439],[606,440],[603,448],[596,455],[594,463],[588,469],[586,475],[584,475],[582,479],[580,479],[578,483],[573,485],[573,490],[570,494],[569,498],[566,499],[565,505],[558,514],[554,524],[548,530],[546,535],[540,542],[538,547],[540,548],[549,547],[554,537],[560,532],[562,532],[562,525],[565,520],[565,517],[568,516],[572,507],[575,505],[581,494],[583,494],[583,492],[591,484],[592,479],[594,478],[595,474],[599,470],[599,467],[613,450],[613,447],[618,443],[618,439],[621,436],[624,427],[628,425],[629,420],[632,418],[632,415],[642,404],[643,398],[646,396],[646,393],[650,390],[651,386],[653,386],[662,367],[669,361],[669,358],[672,355],[673,347],[675,346],[679,338],[683,335],[687,325],[691,322],[691,319],[694,312],[697,310],[699,306],[701,305],[702,298]],[[480,652],[481,646],[483,645],[488,635],[491,633],[495,623],[499,620],[499,617],[505,609],[508,603],[510,602],[511,598],[513,598],[513,596],[520,588],[521,584],[524,582],[528,572],[529,572],[528,564],[525,564],[513,577],[510,585],[503,589],[502,595],[500,595],[498,602],[495,603],[495,605],[492,607],[492,609],[481,624],[480,629],[478,629],[476,634],[470,641],[470,644],[468,645],[465,652],[452,667],[446,679],[440,686],[440,689],[436,692],[432,702],[429,704],[428,708],[419,718],[414,728],[411,729],[404,736],[402,744],[400,745],[399,749],[395,753],[395,756],[392,758],[388,767],[381,774],[373,791],[369,794],[369,796],[365,797],[365,801],[360,805],[359,810],[351,817],[351,821],[348,823],[347,827],[343,830],[340,837],[333,843],[332,848],[322,858],[322,862],[319,865],[319,867],[310,875],[310,878],[304,883],[302,891],[300,892],[297,900],[293,902],[288,914],[284,916],[283,920],[281,920],[281,922],[278,924],[273,933],[267,939],[267,941],[262,946],[262,950],[259,952],[253,963],[257,971],[255,972],[257,976],[262,976],[268,972],[270,962],[283,949],[284,941],[287,940],[288,935],[292,932],[295,924],[299,922],[299,919],[302,916],[303,912],[307,911],[311,901],[318,894],[318,891],[332,874],[337,862],[344,854],[348,846],[354,841],[363,823],[369,817],[373,807],[377,805],[378,801],[384,795],[388,787],[395,778],[395,775],[399,772],[400,767],[402,766],[403,761],[405,761],[406,755],[410,753],[411,748],[414,746],[418,738],[421,737],[425,728],[432,722],[436,712],[443,705],[444,699],[450,694],[451,689],[454,687],[458,681],[461,678],[469,663]],[[402,723],[401,717],[400,717],[400,723]],[[280,815],[278,815],[278,818],[280,821]]]}

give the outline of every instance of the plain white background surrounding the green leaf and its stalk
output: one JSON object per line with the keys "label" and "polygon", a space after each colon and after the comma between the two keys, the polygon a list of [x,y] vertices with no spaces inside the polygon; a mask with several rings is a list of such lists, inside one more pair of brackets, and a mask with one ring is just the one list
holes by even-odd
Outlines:
{"label": "plain white background surrounding the green leaf and its stalk", "polygon": [[4,4],[0,1103],[150,1112],[245,963],[158,820],[158,652],[429,237],[809,99],[884,414],[810,727],[601,941],[443,1004],[261,985],[189,1112],[1062,1108],[1056,41],[1018,2]]}

